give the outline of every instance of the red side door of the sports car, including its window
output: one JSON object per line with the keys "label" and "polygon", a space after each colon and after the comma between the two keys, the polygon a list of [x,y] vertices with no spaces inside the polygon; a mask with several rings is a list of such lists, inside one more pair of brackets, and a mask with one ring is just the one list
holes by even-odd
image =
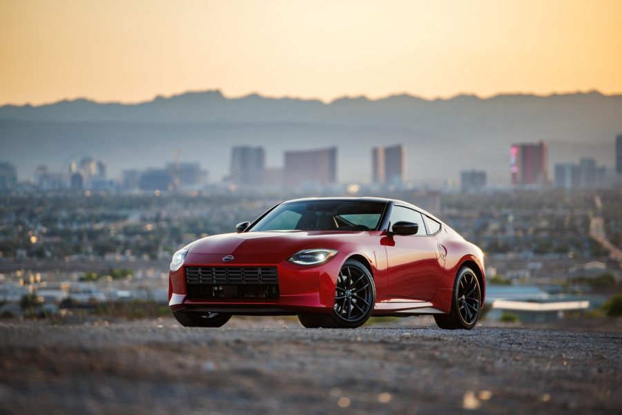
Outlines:
{"label": "red side door of the sports car, including its window", "polygon": [[[393,224],[401,221],[418,224],[416,235],[390,235]],[[431,300],[445,272],[445,260],[436,238],[427,234],[421,213],[406,206],[393,206],[385,247],[389,298]]]}

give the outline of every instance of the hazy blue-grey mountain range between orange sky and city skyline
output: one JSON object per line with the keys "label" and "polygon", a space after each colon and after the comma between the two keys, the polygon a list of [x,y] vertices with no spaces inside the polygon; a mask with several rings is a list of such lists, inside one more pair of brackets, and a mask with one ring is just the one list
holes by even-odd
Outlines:
{"label": "hazy blue-grey mountain range between orange sky and city skyline", "polygon": [[163,166],[179,149],[182,160],[200,161],[219,180],[229,171],[235,144],[264,146],[270,165],[282,165],[286,149],[337,145],[339,179],[367,181],[371,147],[402,143],[407,176],[418,184],[457,179],[465,168],[483,169],[489,182],[505,184],[512,142],[545,140],[552,174],[555,162],[582,156],[613,166],[619,133],[622,95],[597,92],[434,100],[395,95],[324,104],[206,91],[130,105],[77,99],[1,106],[0,160],[16,164],[23,178],[39,164],[59,169],[72,154],[86,153],[116,175]]}

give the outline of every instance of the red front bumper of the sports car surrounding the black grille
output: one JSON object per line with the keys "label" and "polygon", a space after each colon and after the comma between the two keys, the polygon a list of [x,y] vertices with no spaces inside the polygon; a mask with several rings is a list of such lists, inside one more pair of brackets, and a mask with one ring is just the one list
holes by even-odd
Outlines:
{"label": "red front bumper of the sports car surrounding the black grille", "polygon": [[[214,257],[217,258],[214,258]],[[342,258],[314,267],[283,261],[265,264],[244,261],[222,262],[222,255],[188,255],[184,265],[170,271],[168,306],[173,311],[194,310],[249,315],[295,314],[298,312],[329,313],[333,309],[335,287]],[[217,262],[218,260],[218,262]],[[188,298],[186,267],[277,267],[278,298]]]}

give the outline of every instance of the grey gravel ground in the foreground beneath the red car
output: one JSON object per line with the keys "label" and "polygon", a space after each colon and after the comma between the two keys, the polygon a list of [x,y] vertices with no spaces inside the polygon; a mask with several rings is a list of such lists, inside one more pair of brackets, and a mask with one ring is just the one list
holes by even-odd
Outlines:
{"label": "grey gravel ground in the foreground beneath the red car", "polygon": [[0,322],[0,413],[622,413],[619,332]]}

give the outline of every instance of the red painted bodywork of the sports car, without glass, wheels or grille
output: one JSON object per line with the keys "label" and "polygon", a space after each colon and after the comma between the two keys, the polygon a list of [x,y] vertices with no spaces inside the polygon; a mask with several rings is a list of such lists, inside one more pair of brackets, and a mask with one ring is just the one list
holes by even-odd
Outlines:
{"label": "red painted bodywork of the sports car, without glass, wheels or grille", "polygon": [[[393,201],[387,200],[391,204]],[[404,204],[404,202],[400,202]],[[411,206],[411,205],[409,205]],[[413,209],[434,218],[422,209]],[[382,221],[381,221],[382,223]],[[441,222],[442,223],[442,222]],[[421,224],[422,226],[422,224]],[[287,261],[302,249],[336,249],[338,254],[315,266]],[[233,255],[234,260],[222,258]],[[184,266],[170,272],[171,293],[186,294],[184,267],[276,266],[280,296],[275,300],[184,300],[174,310],[206,305],[278,307],[286,312],[329,313],[333,308],[336,280],[342,264],[353,255],[365,258],[376,284],[374,315],[434,307],[448,312],[458,269],[469,262],[481,276],[485,294],[483,254],[446,224],[436,235],[387,235],[377,231],[244,232],[214,235],[193,242]],[[394,305],[394,302],[403,303]]]}

